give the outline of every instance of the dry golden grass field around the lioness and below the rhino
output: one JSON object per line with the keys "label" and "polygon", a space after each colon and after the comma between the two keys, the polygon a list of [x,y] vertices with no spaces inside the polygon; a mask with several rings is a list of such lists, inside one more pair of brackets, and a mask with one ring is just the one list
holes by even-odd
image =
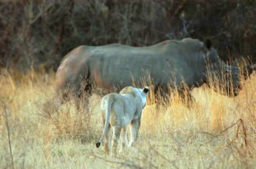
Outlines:
{"label": "dry golden grass field around the lioness and below the rhino", "polygon": [[[176,93],[156,109],[146,106],[135,154],[102,155],[101,97],[60,105],[53,97],[54,73],[1,70],[0,168],[11,168],[4,106],[14,168],[254,168],[256,165],[255,73],[236,98],[206,86],[192,91],[187,109]],[[86,96],[84,97],[86,98]],[[47,106],[45,101],[50,101]],[[83,106],[84,105],[84,106]],[[59,109],[53,109],[57,106]],[[241,119],[241,120],[238,120]],[[129,136],[129,135],[128,135]]]}

